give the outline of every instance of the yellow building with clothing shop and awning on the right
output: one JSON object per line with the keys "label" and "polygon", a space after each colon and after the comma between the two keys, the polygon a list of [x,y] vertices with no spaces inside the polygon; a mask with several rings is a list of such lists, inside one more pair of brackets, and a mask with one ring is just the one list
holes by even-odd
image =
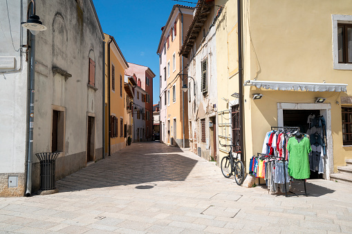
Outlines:
{"label": "yellow building with clothing shop and awning on the right", "polygon": [[[311,173],[311,177],[341,179],[332,174],[352,158],[352,91],[348,86],[352,84],[348,46],[352,39],[345,36],[352,27],[351,1],[241,2],[239,26],[237,1],[215,1],[224,5],[217,25],[216,55],[219,111],[232,108],[237,113],[234,108],[241,102],[235,98],[240,93],[241,72],[237,32],[243,32],[242,150],[247,171],[250,157],[261,153],[272,127],[297,126],[306,132],[315,115],[326,121],[326,137],[322,136],[326,155],[324,174]],[[232,130],[227,134],[235,139]]]}

